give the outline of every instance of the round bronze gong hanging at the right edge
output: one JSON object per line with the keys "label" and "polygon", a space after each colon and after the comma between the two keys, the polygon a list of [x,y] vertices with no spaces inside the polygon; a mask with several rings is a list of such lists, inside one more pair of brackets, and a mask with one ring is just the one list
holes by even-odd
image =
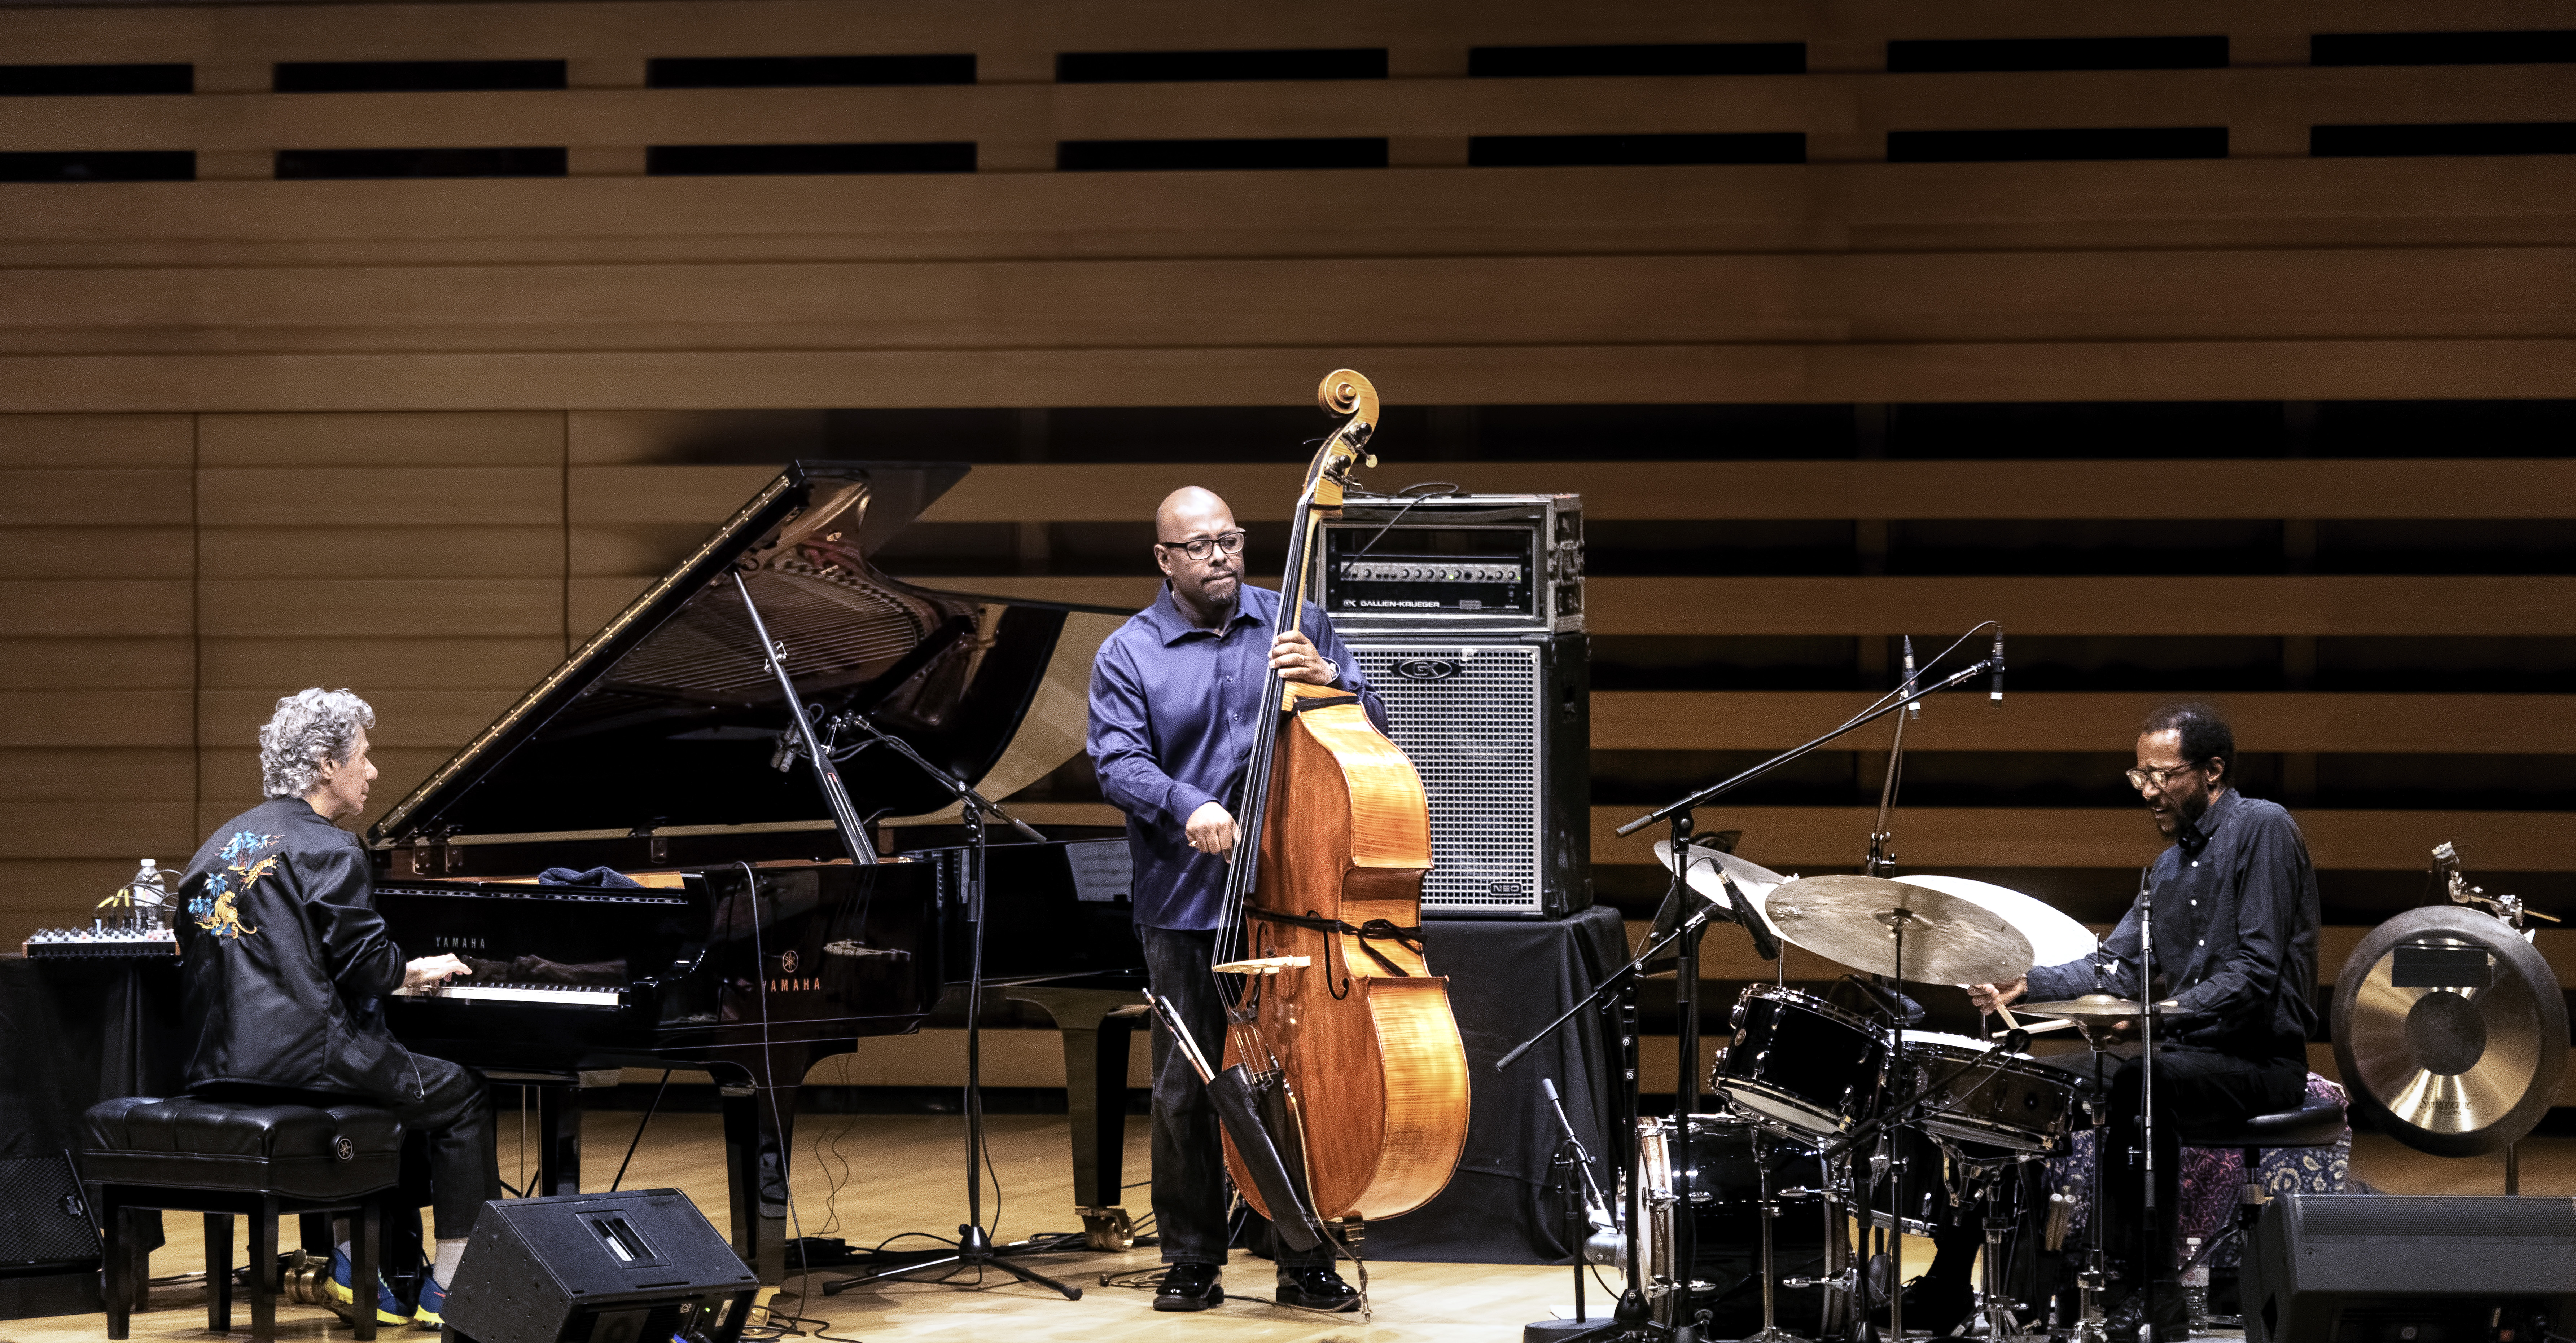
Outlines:
{"label": "round bronze gong hanging at the right edge", "polygon": [[2362,936],[2334,985],[2334,1063],[2352,1104],[2432,1155],[2509,1147],[2568,1068],[2550,962],[2501,918],[2406,911]]}

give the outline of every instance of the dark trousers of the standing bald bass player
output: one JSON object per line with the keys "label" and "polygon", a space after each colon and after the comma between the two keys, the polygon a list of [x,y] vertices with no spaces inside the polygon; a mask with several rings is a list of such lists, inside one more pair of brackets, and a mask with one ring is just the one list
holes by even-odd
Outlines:
{"label": "dark trousers of the standing bald bass player", "polygon": [[[1190,1027],[1211,1068],[1224,1065],[1226,1001],[1216,996],[1208,960],[1213,931],[1136,929],[1144,939],[1144,970],[1157,998],[1172,1003]],[[1224,1122],[1208,1101],[1188,1055],[1172,1047],[1172,1032],[1154,1021],[1154,1230],[1162,1235],[1164,1263],[1226,1261],[1226,1147]],[[1260,1225],[1260,1214],[1255,1214]],[[1267,1230],[1267,1227],[1262,1227]],[[1332,1263],[1332,1245],[1296,1253],[1278,1248],[1283,1268]]]}

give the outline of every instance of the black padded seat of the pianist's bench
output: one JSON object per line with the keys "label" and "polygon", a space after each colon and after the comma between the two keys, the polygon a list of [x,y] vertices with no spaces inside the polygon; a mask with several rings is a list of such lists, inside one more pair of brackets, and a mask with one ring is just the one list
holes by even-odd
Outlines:
{"label": "black padded seat of the pianist's bench", "polygon": [[85,1119],[90,1183],[353,1199],[402,1181],[402,1122],[363,1104],[124,1096]]}

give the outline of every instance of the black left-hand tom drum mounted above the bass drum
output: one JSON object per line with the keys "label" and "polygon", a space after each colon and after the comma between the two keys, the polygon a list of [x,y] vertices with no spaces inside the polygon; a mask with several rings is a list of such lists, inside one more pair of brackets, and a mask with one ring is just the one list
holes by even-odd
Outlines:
{"label": "black left-hand tom drum mounted above the bass drum", "polygon": [[1708,1088],[1754,1122],[1808,1137],[1857,1124],[1888,1063],[1886,1029],[1795,988],[1749,985],[1734,1027]]}

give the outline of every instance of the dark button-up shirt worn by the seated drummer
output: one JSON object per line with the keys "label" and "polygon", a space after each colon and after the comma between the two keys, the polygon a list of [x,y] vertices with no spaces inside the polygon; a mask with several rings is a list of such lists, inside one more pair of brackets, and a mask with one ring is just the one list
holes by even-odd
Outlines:
{"label": "dark button-up shirt worn by the seated drummer", "polygon": [[[2221,792],[2148,870],[2154,998],[2192,1014],[2174,1037],[2239,1057],[2306,1057],[2316,1027],[2316,867],[2280,803]],[[2138,988],[2138,908],[2102,944],[2107,993]],[[2030,973],[2032,1001],[2094,991],[2094,962]]]}

